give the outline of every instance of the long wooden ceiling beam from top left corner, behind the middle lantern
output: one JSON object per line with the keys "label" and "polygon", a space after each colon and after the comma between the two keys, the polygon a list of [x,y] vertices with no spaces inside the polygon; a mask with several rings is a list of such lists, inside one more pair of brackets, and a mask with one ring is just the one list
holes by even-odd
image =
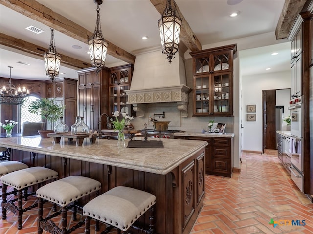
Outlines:
{"label": "long wooden ceiling beam from top left corner, behind the middle lantern", "polygon": [[[68,20],[64,16],[52,11],[50,8],[45,7],[34,0],[1,0],[2,5],[11,8],[14,11],[21,13],[22,15],[28,16],[29,18],[41,22],[55,30],[82,41],[88,43],[88,35],[92,35],[87,29]],[[114,45],[112,42],[108,42],[108,54],[121,59],[122,61],[132,63],[135,62],[135,56],[128,53],[127,51]]]}

